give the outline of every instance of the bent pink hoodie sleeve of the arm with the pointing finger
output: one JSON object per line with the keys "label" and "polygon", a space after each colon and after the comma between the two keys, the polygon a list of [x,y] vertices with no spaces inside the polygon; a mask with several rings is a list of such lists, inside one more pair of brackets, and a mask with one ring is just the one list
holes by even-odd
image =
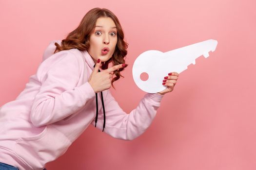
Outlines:
{"label": "bent pink hoodie sleeve of the arm with the pointing finger", "polygon": [[42,63],[37,72],[41,87],[30,114],[31,122],[36,127],[54,123],[76,113],[88,100],[95,97],[88,82],[77,86],[80,77],[77,56],[69,51],[60,51],[55,55],[54,64],[49,61]]}

